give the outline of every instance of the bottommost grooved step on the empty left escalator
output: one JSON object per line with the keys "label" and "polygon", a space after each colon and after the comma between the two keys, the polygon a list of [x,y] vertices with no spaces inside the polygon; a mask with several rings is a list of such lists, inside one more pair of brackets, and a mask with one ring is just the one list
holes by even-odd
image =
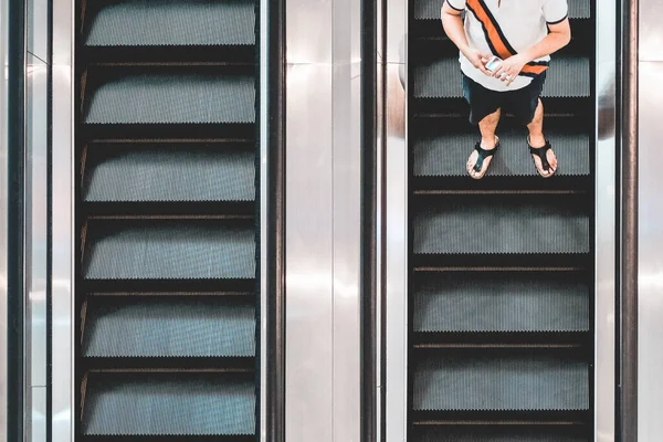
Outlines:
{"label": "bottommost grooved step on the empty left escalator", "polygon": [[241,435],[255,433],[252,378],[223,373],[92,372],[86,435]]}

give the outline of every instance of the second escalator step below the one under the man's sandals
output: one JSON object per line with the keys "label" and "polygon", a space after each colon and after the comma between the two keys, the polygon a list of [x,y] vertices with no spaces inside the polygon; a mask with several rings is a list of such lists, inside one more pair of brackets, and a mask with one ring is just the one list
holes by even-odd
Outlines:
{"label": "second escalator step below the one under the man's sandals", "polygon": [[567,273],[423,274],[413,295],[420,333],[588,332],[589,287]]}

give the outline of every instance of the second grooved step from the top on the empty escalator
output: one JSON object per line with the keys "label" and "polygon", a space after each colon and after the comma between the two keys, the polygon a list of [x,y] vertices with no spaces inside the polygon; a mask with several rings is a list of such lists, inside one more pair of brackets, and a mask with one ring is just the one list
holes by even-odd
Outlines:
{"label": "second grooved step from the top on the empty escalator", "polygon": [[87,124],[252,124],[250,75],[125,75],[90,91]]}

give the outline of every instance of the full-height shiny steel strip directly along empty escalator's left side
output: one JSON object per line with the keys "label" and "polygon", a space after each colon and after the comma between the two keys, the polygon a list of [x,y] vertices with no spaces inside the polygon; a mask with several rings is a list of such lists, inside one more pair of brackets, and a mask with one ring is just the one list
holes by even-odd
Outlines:
{"label": "full-height shiny steel strip directly along empty escalator's left side", "polygon": [[73,440],[73,32],[74,1],[53,0],[52,429],[53,442]]}

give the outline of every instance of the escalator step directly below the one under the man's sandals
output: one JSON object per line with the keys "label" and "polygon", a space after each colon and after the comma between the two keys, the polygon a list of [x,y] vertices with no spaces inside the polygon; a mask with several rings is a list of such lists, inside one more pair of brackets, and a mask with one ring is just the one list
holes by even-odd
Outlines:
{"label": "escalator step directly below the one under the man's sandals", "polygon": [[564,194],[436,198],[414,217],[414,253],[588,253],[590,209]]}

